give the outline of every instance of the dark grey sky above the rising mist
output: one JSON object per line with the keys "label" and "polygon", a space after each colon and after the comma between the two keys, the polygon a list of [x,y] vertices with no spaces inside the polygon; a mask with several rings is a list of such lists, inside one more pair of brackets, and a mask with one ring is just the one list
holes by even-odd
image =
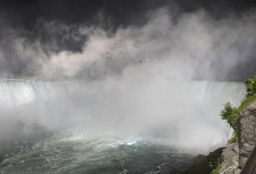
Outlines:
{"label": "dark grey sky above the rising mist", "polygon": [[105,19],[113,17],[115,26],[143,24],[144,13],[148,10],[156,10],[161,6],[179,6],[180,12],[193,12],[198,8],[204,8],[214,17],[220,19],[228,13],[239,13],[256,5],[255,1],[221,1],[221,0],[89,0],[89,1],[1,1],[1,16],[10,20],[13,26],[35,24],[36,20],[43,17],[47,20],[60,20],[61,22],[73,24],[92,24],[93,17],[101,12]]}

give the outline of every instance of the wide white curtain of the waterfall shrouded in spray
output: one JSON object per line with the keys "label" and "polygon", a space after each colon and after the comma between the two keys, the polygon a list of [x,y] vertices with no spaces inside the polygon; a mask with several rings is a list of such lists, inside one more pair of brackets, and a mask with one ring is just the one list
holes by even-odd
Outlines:
{"label": "wide white curtain of the waterfall shrouded in spray", "polygon": [[239,105],[245,93],[243,83],[224,81],[1,81],[1,137],[20,121],[147,132],[206,149],[226,143],[220,109]]}

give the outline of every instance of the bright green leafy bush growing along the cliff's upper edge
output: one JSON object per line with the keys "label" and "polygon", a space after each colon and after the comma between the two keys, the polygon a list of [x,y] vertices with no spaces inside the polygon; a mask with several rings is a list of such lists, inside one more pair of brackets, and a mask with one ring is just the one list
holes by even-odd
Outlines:
{"label": "bright green leafy bush growing along the cliff's upper edge", "polygon": [[224,104],[224,108],[221,110],[220,116],[222,120],[228,123],[230,127],[234,130],[232,138],[229,139],[231,142],[238,141],[237,134],[237,118],[239,117],[241,111],[245,107],[249,106],[250,103],[256,101],[256,75],[253,78],[248,78],[245,81],[246,85],[246,98],[241,102],[239,107],[233,107],[230,102]]}

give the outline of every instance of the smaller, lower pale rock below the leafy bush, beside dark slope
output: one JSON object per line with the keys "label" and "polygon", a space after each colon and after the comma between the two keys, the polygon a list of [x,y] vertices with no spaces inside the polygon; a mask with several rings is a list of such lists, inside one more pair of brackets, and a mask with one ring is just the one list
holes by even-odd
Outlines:
{"label": "smaller, lower pale rock below the leafy bush, beside dark slope", "polygon": [[238,167],[239,149],[236,143],[227,143],[221,154],[220,174],[234,174]]}

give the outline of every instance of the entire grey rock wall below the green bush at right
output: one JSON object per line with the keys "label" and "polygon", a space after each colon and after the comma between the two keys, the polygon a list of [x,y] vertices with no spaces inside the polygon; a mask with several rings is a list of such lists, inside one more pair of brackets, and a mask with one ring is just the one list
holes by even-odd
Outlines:
{"label": "entire grey rock wall below the green bush at right", "polygon": [[240,173],[256,145],[256,102],[241,112],[237,120],[238,144],[227,143],[221,154],[220,174]]}

